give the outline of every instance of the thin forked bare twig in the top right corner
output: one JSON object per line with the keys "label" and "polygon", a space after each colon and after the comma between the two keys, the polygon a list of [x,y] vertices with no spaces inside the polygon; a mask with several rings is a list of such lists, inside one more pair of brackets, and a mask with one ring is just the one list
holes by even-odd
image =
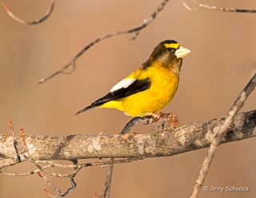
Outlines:
{"label": "thin forked bare twig in the top right corner", "polygon": [[200,8],[207,8],[210,10],[219,10],[219,11],[224,11],[224,12],[237,12],[237,13],[256,13],[256,10],[245,10],[245,9],[234,9],[234,8],[223,8],[223,7],[216,7],[216,6],[208,6],[208,5],[204,5],[202,3],[196,2],[195,0],[191,0],[192,2],[194,2],[194,4],[197,5],[196,8],[190,8],[190,6],[188,6],[185,2],[185,0],[182,0],[183,6],[186,7],[187,10],[190,11],[197,11]]}

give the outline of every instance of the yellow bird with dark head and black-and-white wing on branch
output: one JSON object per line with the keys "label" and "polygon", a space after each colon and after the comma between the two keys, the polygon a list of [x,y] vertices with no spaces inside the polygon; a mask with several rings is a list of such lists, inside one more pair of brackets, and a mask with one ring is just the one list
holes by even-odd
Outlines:
{"label": "yellow bird with dark head and black-and-white wing on branch", "polygon": [[149,59],[110,89],[110,93],[78,111],[112,108],[130,117],[157,115],[174,97],[179,82],[182,58],[190,49],[174,40],[160,42]]}

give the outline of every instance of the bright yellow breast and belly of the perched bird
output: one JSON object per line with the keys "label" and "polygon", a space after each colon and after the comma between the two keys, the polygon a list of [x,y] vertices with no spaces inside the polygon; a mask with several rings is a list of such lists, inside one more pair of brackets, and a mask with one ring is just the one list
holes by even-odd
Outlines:
{"label": "bright yellow breast and belly of the perched bird", "polygon": [[122,99],[122,110],[130,116],[157,113],[171,101],[178,89],[178,74],[168,68],[148,67],[146,72],[143,72],[143,76],[138,78],[146,77],[150,78],[150,89]]}

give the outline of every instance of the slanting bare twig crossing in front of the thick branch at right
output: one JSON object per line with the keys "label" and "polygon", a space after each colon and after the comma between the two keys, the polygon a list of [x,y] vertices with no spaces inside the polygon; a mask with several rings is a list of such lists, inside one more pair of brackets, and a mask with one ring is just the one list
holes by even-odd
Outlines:
{"label": "slanting bare twig crossing in front of the thick branch at right", "polygon": [[190,196],[191,198],[198,197],[202,188],[202,184],[206,179],[207,172],[209,171],[211,161],[214,158],[214,154],[218,148],[218,145],[221,144],[222,137],[226,134],[227,129],[230,127],[230,124],[233,122],[234,116],[236,115],[236,113],[238,113],[238,110],[242,108],[247,97],[249,97],[250,93],[254,90],[255,86],[256,86],[256,73],[254,74],[254,77],[250,79],[246,87],[242,89],[242,92],[239,94],[238,99],[234,102],[234,105],[232,105],[230,112],[228,113],[225,121],[220,126],[220,128],[218,129],[218,133],[216,134],[214,140],[211,142],[210,148],[206,154],[206,158],[202,163],[202,168],[199,172],[198,180],[196,180],[196,183],[194,185],[194,191]]}

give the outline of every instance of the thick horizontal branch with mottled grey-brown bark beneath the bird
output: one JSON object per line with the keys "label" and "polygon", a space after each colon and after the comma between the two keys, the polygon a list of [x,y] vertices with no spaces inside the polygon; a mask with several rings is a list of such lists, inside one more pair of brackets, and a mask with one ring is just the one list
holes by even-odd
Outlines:
{"label": "thick horizontal branch with mottled grey-brown bark beneath the bird", "polygon": [[[33,160],[78,160],[85,158],[129,158],[172,156],[209,147],[224,118],[163,129],[158,133],[124,135],[69,135],[49,137],[26,135],[25,141]],[[256,110],[234,117],[222,143],[241,141],[256,136]],[[18,145],[22,139],[17,137]],[[15,164],[13,137],[0,135],[0,168]],[[14,158],[13,158],[14,157]],[[10,159],[11,158],[11,159]],[[23,159],[24,160],[24,159]],[[15,160],[18,163],[18,160]],[[9,162],[9,163],[8,163]]]}

